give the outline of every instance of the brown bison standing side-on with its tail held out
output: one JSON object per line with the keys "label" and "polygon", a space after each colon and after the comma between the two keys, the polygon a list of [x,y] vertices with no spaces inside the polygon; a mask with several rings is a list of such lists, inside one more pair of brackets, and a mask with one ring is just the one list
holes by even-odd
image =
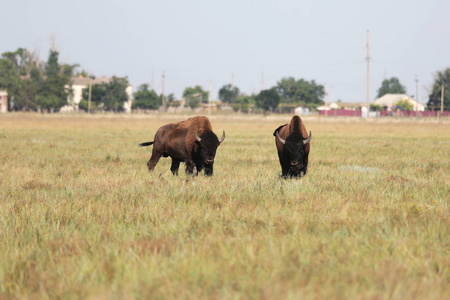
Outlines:
{"label": "brown bison standing side-on with its tail held out", "polygon": [[147,162],[150,172],[161,156],[170,156],[172,158],[170,170],[174,175],[178,175],[180,162],[185,162],[186,173],[197,175],[204,168],[205,174],[211,176],[217,147],[224,139],[225,131],[219,140],[212,131],[211,122],[207,117],[193,117],[162,126],[156,132],[153,142],[142,143],[139,146],[153,144],[152,157]]}

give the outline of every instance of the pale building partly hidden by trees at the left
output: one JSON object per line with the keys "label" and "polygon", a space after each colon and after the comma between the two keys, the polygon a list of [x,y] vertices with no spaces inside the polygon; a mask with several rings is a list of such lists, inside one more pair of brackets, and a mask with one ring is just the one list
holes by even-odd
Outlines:
{"label": "pale building partly hidden by trees at the left", "polygon": [[[69,96],[69,98],[67,99],[68,104],[61,108],[61,112],[78,111],[78,105],[80,104],[80,101],[83,99],[83,90],[89,88],[89,84],[95,85],[95,84],[109,83],[110,81],[111,79],[107,78],[106,76],[97,78],[82,77],[82,76],[73,77],[72,78],[73,95]],[[126,88],[125,92],[128,96],[128,101],[124,103],[123,108],[125,112],[131,112],[131,103],[133,94],[133,87],[131,84],[128,84],[128,87]]]}

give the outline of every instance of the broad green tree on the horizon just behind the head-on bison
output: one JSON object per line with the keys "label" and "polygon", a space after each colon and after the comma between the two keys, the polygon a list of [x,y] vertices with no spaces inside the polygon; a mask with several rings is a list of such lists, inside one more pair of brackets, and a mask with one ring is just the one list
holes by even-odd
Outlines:
{"label": "broad green tree on the horizon just behind the head-on bison", "polygon": [[307,105],[317,107],[323,104],[324,87],[314,80],[295,80],[293,77],[282,78],[276,86],[280,102],[292,105]]}

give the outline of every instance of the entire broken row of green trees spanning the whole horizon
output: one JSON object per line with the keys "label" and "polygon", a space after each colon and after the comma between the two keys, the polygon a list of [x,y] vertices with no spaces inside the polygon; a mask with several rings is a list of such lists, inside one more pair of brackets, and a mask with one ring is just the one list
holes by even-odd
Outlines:
{"label": "entire broken row of green trees spanning the whole horizon", "polygon": [[[79,65],[60,64],[59,53],[50,50],[47,62],[40,62],[37,55],[19,48],[5,52],[0,58],[0,89],[8,92],[13,110],[57,111],[73,95],[73,76],[88,77],[85,71],[75,73]],[[88,110],[122,111],[128,100],[126,88],[128,79],[113,77],[109,82],[92,85],[90,91],[84,89],[79,108]],[[427,109],[440,108],[442,86],[444,86],[444,109],[450,110],[450,68],[437,72]],[[385,94],[404,94],[405,87],[399,79],[385,79],[378,89],[377,97]],[[90,94],[90,95],[89,95]],[[179,106],[173,94],[158,95],[148,84],[141,85],[134,93],[133,109],[158,109],[161,106]],[[187,87],[183,91],[185,106],[196,108],[208,102],[208,92],[199,85]],[[219,100],[235,110],[249,111],[259,108],[264,111],[290,112],[294,107],[303,106],[316,109],[324,103],[325,88],[314,80],[284,77],[269,89],[259,94],[247,95],[238,87],[226,84],[219,89]],[[406,104],[405,104],[406,105]]]}

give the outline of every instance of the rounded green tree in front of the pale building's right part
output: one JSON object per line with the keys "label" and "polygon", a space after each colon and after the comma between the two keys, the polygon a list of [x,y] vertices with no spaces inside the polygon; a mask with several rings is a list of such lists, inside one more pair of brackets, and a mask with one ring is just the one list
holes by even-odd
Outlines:
{"label": "rounded green tree in front of the pale building's right part", "polygon": [[102,103],[106,110],[114,110],[115,112],[123,110],[123,104],[128,101],[126,89],[128,79],[113,77],[109,83],[103,84],[105,95],[102,97]]}

